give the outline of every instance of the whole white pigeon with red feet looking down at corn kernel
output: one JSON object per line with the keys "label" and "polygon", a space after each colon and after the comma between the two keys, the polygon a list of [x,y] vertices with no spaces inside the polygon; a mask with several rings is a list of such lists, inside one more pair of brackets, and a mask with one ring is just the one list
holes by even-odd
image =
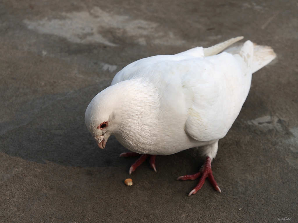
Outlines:
{"label": "whole white pigeon with red feet looking down at corn kernel", "polygon": [[[248,95],[252,73],[275,57],[271,47],[236,37],[209,48],[196,47],[175,55],[137,60],[114,77],[111,86],[98,93],[85,113],[85,123],[100,148],[110,135],[128,150],[120,156],[142,156],[133,172],[148,156],[156,171],[155,156],[170,155],[192,147],[206,157],[203,168],[181,180],[205,178],[221,192],[211,170],[211,161],[237,118]],[[220,53],[220,54],[218,54]]]}

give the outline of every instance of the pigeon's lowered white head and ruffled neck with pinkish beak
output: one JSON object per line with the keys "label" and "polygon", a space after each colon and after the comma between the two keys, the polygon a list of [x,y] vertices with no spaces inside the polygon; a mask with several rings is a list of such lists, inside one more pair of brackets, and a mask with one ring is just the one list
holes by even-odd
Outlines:
{"label": "pigeon's lowered white head and ruffled neck with pinkish beak", "polygon": [[158,107],[150,85],[136,79],[121,81],[91,100],[85,112],[85,124],[100,148],[114,135],[131,149],[138,140],[143,142],[148,135],[152,138],[156,134]]}

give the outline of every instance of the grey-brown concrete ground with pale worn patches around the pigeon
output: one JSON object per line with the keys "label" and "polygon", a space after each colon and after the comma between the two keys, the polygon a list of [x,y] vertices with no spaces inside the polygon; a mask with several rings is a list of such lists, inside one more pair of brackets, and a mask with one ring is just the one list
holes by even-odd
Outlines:
{"label": "grey-brown concrete ground with pale worn patches around the pigeon", "polygon": [[[148,161],[97,147],[90,100],[125,65],[243,35],[277,54],[257,71],[206,180],[189,149]],[[0,1],[0,222],[298,222],[298,3]],[[291,219],[291,221],[290,221]]]}

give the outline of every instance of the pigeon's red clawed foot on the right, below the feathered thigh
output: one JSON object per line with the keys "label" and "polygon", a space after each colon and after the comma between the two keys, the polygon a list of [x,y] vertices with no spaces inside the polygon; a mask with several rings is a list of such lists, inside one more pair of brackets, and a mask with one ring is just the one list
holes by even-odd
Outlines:
{"label": "pigeon's red clawed foot on the right, below the feathered thigh", "polygon": [[214,189],[221,192],[221,189],[218,187],[218,185],[212,175],[211,158],[209,156],[206,157],[206,161],[205,161],[202,169],[199,172],[197,172],[193,175],[181,176],[181,177],[177,178],[177,180],[195,180],[198,177],[201,177],[199,183],[197,184],[197,186],[195,186],[195,188],[192,191],[190,191],[188,196],[198,192],[198,190],[202,188],[203,184],[205,183],[205,179],[207,177],[209,178],[209,181],[212,184],[212,186],[214,187]]}

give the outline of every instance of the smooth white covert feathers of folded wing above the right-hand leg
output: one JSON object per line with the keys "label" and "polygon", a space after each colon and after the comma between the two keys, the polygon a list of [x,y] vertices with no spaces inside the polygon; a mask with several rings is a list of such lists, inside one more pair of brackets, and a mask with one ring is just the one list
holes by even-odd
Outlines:
{"label": "smooth white covert feathers of folded wing above the right-hand leg", "polygon": [[197,76],[184,79],[185,95],[190,96],[185,131],[198,141],[223,138],[238,116],[247,93],[243,72],[231,54],[204,58]]}

